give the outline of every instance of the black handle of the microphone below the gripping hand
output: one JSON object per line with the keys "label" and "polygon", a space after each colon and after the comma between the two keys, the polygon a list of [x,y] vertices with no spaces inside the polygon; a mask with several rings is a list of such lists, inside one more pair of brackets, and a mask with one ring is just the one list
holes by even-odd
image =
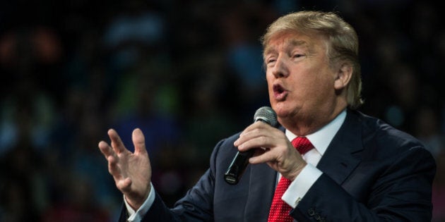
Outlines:
{"label": "black handle of the microphone below the gripping hand", "polygon": [[246,152],[237,152],[237,155],[230,164],[227,172],[224,174],[225,182],[235,185],[238,183],[239,178],[241,178],[244,170],[249,164],[249,158],[254,156],[255,149],[249,149]]}

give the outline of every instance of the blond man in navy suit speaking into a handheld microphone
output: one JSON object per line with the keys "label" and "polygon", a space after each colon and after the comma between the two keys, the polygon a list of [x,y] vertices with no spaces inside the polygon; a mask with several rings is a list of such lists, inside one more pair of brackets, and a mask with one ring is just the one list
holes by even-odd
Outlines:
{"label": "blond man in navy suit speaking into a handheld microphone", "polygon": [[[259,121],[220,141],[208,171],[174,209],[150,184],[141,130],[133,131],[134,154],[109,130],[111,146],[99,147],[124,194],[121,220],[430,221],[431,154],[414,137],[355,111],[362,101],[352,27],[334,13],[301,11],[278,18],[262,40],[269,99],[282,127]],[[300,154],[295,137],[314,149]],[[249,149],[256,149],[250,165],[229,185],[227,166]],[[281,180],[290,185],[274,197]],[[289,209],[276,213],[281,206]]]}

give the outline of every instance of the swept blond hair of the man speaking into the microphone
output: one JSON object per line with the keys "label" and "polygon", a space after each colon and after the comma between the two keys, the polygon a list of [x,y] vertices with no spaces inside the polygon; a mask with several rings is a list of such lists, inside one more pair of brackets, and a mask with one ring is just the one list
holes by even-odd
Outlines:
{"label": "swept blond hair of the man speaking into the microphone", "polygon": [[331,64],[338,61],[351,63],[352,77],[346,87],[346,99],[350,109],[357,109],[363,104],[361,98],[362,80],[358,59],[358,37],[351,25],[336,13],[319,11],[299,11],[280,17],[273,22],[261,37],[263,49],[266,49],[271,37],[279,32],[297,31],[303,35],[323,35],[328,39],[327,56]]}

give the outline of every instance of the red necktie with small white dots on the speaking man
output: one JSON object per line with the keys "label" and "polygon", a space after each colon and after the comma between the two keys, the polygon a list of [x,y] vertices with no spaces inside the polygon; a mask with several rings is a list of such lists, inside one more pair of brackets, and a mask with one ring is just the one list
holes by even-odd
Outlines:
{"label": "red necktie with small white dots on the speaking man", "polygon": [[[295,149],[300,154],[306,154],[309,150],[314,148],[311,142],[307,140],[306,137],[297,137],[292,140],[292,145],[294,145]],[[281,177],[280,182],[275,189],[275,194],[273,195],[271,211],[269,211],[268,222],[279,222],[279,221],[293,221],[292,216],[289,215],[291,206],[287,205],[281,197],[289,187],[290,183],[289,179],[285,177]]]}

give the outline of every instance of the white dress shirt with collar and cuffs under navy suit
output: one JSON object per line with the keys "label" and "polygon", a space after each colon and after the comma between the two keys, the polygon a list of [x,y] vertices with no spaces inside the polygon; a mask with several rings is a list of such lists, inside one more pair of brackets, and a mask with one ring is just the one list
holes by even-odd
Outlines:
{"label": "white dress shirt with collar and cuffs under navy suit", "polygon": [[[307,162],[307,165],[304,166],[301,173],[297,175],[297,178],[292,181],[283,197],[281,197],[281,199],[292,206],[292,208],[297,206],[298,202],[304,197],[304,195],[306,195],[309,188],[312,187],[315,181],[322,174],[322,172],[316,168],[316,165],[319,164],[321,156],[323,156],[324,152],[326,152],[326,149],[331,143],[333,137],[336,135],[341,125],[343,125],[345,118],[346,110],[342,111],[336,118],[333,119],[333,121],[331,121],[331,123],[328,123],[328,125],[325,125],[323,128],[312,133],[311,135],[306,135],[307,139],[314,145],[315,149],[311,149],[309,152],[303,155],[303,159]],[[289,130],[285,130],[285,134],[289,141],[292,141],[295,139],[295,137],[297,137],[297,135],[294,135]],[[278,179],[280,179],[280,177],[281,175],[278,174]],[[127,221],[141,221],[143,215],[145,215],[148,209],[150,209],[150,206],[155,201],[155,189],[153,184],[150,185],[150,194],[148,195],[146,202],[144,202],[137,211],[134,211],[131,208],[124,197],[126,210],[129,213],[129,218]]]}

